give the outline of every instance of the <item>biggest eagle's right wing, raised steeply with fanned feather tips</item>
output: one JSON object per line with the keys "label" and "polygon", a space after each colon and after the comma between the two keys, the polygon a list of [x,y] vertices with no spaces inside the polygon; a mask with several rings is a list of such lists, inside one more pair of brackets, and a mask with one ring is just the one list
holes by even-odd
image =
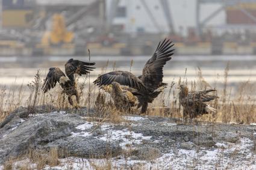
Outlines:
{"label": "biggest eagle's right wing, raised steeply with fanned feather tips", "polygon": [[151,92],[160,87],[163,81],[163,67],[173,55],[174,49],[171,49],[173,45],[170,40],[165,39],[162,43],[160,41],[155,53],[151,59],[146,62],[142,76],[139,76],[146,88]]}

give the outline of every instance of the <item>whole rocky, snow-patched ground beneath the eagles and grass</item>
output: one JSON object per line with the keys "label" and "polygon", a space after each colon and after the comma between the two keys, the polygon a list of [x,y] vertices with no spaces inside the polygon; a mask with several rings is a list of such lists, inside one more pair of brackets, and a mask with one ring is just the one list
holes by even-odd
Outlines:
{"label": "whole rocky, snow-patched ground beneath the eagles and grass", "polygon": [[[43,169],[256,169],[256,126],[161,117],[123,116],[120,123],[92,121],[92,113],[55,111],[20,118],[0,129],[0,162],[35,149],[65,149],[57,166]],[[33,130],[31,130],[33,129]],[[20,144],[22,143],[22,145]],[[15,160],[36,168],[27,157]]]}

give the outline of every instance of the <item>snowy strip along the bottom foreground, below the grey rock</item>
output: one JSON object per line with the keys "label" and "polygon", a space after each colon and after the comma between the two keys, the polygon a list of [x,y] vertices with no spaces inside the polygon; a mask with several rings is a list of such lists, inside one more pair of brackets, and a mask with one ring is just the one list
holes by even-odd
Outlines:
{"label": "snowy strip along the bottom foreground, below the grey rock", "polygon": [[[155,160],[132,160],[130,157],[106,159],[81,159],[69,157],[61,159],[56,169],[96,169],[107,163],[113,169],[256,169],[256,156],[251,154],[252,141],[240,139],[239,144],[217,143],[221,148],[178,149],[163,154]],[[245,159],[244,159],[245,158]],[[47,168],[46,168],[47,169]]]}

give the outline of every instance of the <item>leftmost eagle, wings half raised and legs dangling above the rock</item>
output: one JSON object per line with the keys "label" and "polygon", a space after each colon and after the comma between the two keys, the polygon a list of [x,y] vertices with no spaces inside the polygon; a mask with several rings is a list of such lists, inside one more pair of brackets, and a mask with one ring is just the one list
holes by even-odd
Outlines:
{"label": "leftmost eagle, wings half raised and legs dangling above the rock", "polygon": [[70,105],[73,106],[72,96],[76,97],[76,103],[79,105],[80,99],[78,96],[78,91],[76,90],[74,75],[78,74],[81,76],[89,74],[90,71],[93,71],[93,68],[95,67],[89,67],[88,65],[95,65],[95,62],[83,62],[73,58],[69,59],[69,61],[67,61],[65,64],[65,72],[67,76],[58,67],[49,68],[49,72],[42,87],[43,93],[46,93],[47,91],[51,90],[51,88],[54,88],[58,82],[63,89],[61,94],[66,94],[68,96],[67,98]]}

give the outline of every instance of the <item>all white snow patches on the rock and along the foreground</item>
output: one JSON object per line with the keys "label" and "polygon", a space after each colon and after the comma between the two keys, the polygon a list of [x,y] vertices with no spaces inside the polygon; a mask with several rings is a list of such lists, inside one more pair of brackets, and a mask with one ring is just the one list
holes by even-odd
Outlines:
{"label": "all white snow patches on the rock and along the foreground", "polygon": [[[142,117],[125,117],[126,120],[140,121]],[[175,126],[175,123],[164,122],[163,125]],[[17,126],[16,126],[17,127]],[[96,126],[89,121],[80,124],[76,129],[81,132],[72,132],[73,136],[91,136]],[[143,140],[151,136],[143,136],[129,128],[114,129],[111,123],[100,124],[99,129],[106,132],[95,136],[104,141],[117,142],[123,149],[136,148]],[[160,140],[152,141],[160,143]],[[216,147],[203,148],[196,146],[193,150],[185,150],[180,145],[173,144],[172,148],[161,157],[152,160],[134,160],[133,157],[113,157],[111,159],[84,159],[67,157],[60,159],[60,165],[54,169],[97,169],[106,167],[108,163],[112,169],[256,169],[256,154],[254,154],[254,141],[240,138],[239,142],[217,142]],[[33,165],[34,166],[34,165]],[[3,166],[0,166],[3,169]],[[50,169],[46,166],[45,169]],[[104,168],[101,168],[104,169]]]}

